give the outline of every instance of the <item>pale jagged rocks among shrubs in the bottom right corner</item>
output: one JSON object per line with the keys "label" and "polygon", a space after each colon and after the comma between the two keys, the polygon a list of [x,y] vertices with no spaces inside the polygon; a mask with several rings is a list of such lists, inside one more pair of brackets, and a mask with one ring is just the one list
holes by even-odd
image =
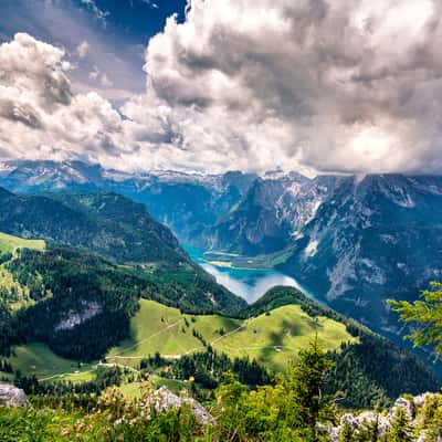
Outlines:
{"label": "pale jagged rocks among shrubs in the bottom right corner", "polygon": [[[351,434],[357,435],[358,432],[366,429],[367,424],[377,422],[379,431],[378,436],[380,440],[383,440],[382,438],[387,435],[393,423],[398,408],[401,408],[406,412],[411,428],[417,429],[419,428],[419,423],[421,423],[419,411],[432,397],[440,397],[440,394],[425,393],[412,399],[399,398],[387,413],[377,411],[364,411],[360,414],[346,413],[340,418],[339,425],[324,429],[324,432],[328,433],[333,442],[340,442],[340,434],[344,425],[348,424]],[[418,441],[427,442],[427,440],[425,432],[422,431],[418,436]]]}

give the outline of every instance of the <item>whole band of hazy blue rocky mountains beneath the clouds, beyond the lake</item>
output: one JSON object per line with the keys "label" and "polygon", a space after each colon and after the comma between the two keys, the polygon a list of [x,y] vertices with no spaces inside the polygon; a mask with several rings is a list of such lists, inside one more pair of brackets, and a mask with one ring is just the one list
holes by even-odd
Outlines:
{"label": "whole band of hazy blue rocky mountains beneath the clouds, beyond the lake", "polygon": [[0,186],[125,194],[182,243],[267,255],[269,265],[387,335],[400,330],[385,301],[414,299],[442,274],[438,176],[130,175],[78,161],[11,161],[2,166]]}

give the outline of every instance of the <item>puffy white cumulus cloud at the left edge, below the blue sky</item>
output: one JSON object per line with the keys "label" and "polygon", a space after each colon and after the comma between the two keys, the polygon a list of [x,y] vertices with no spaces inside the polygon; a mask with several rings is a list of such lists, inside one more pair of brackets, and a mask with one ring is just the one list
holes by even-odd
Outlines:
{"label": "puffy white cumulus cloud at the left edge, below the blue sky", "polygon": [[0,45],[0,66],[3,158],[96,161],[128,151],[112,105],[94,92],[73,94],[63,49],[18,33]]}

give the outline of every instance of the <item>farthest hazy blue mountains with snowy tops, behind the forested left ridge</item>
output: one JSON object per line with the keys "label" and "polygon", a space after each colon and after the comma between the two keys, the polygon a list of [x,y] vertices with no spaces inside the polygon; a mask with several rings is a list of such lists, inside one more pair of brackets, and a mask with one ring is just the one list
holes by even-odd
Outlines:
{"label": "farthest hazy blue mountains with snowy tops, behind the forested left ridge", "polygon": [[0,167],[0,186],[15,192],[115,191],[146,204],[183,242],[201,245],[201,230],[238,203],[256,179],[230,171],[198,175],[173,171],[125,173],[81,161],[10,161]]}

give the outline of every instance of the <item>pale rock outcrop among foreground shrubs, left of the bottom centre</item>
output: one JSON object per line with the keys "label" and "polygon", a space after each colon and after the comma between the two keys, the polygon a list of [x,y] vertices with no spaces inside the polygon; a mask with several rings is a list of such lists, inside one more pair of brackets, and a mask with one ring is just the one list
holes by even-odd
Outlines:
{"label": "pale rock outcrop among foreground shrubs, left of the bottom centre", "polygon": [[192,414],[204,425],[213,424],[213,417],[198,401],[191,398],[180,398],[173,394],[167,387],[154,391],[147,400],[147,406],[155,408],[157,412],[167,411],[171,408],[179,409],[188,406]]}

